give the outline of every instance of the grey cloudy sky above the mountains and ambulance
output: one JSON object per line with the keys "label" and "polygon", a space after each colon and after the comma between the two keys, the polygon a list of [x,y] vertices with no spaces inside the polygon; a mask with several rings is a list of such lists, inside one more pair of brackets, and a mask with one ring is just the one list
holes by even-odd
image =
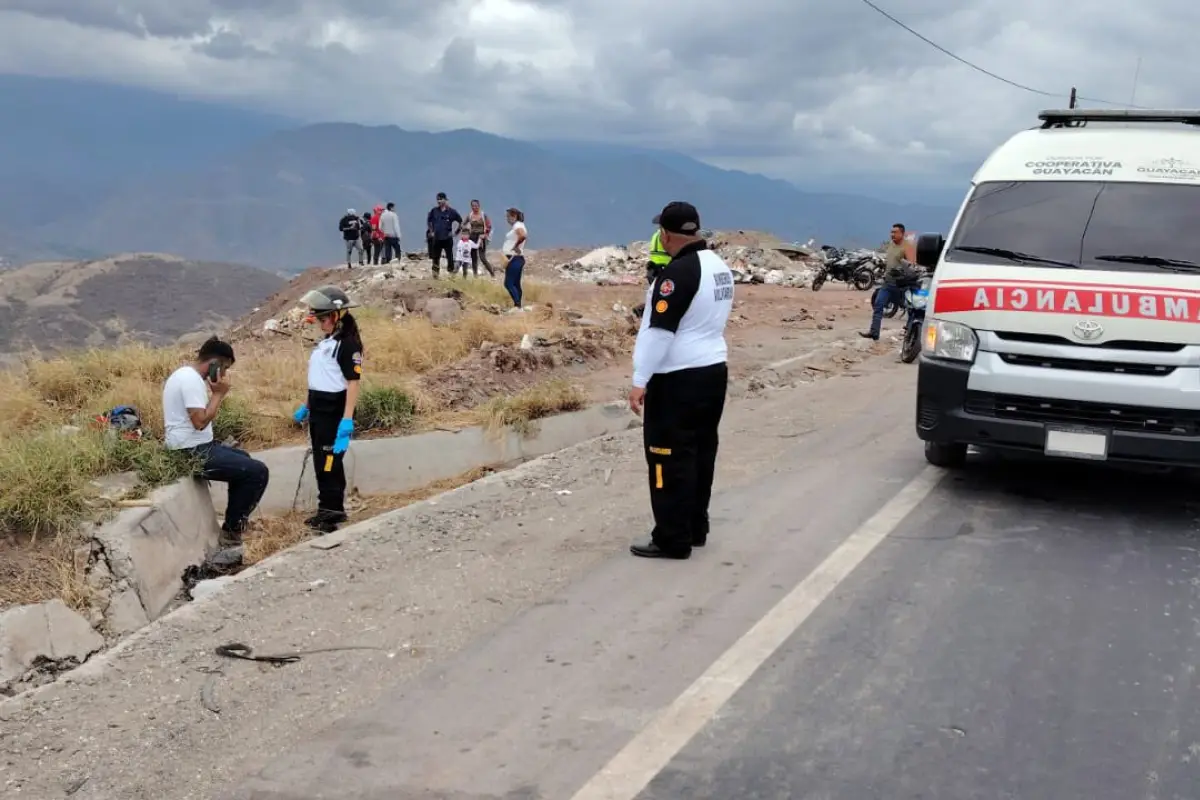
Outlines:
{"label": "grey cloudy sky above the mountains and ambulance", "polygon": [[1037,110],[1200,106],[1184,0],[0,0],[0,72],[306,120],[683,150],[781,176],[958,179]]}

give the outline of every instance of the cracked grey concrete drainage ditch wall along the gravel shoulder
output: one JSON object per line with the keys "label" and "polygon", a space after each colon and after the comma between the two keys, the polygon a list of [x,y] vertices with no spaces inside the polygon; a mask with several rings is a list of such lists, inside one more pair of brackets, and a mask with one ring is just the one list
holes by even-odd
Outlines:
{"label": "cracked grey concrete drainage ditch wall along the gravel shoulder", "polygon": [[[467,428],[360,440],[347,459],[347,479],[364,494],[407,492],[637,425],[623,403],[610,403],[540,420],[524,435]],[[263,512],[287,512],[293,504],[314,507],[317,485],[312,469],[304,465],[305,452],[305,447],[280,447],[256,453],[271,470]],[[216,549],[215,507],[223,507],[223,489],[184,480],[95,527],[90,545],[76,551],[76,567],[86,576],[90,599],[84,613],[61,600],[0,612],[0,696],[52,682],[186,602],[185,572]]]}

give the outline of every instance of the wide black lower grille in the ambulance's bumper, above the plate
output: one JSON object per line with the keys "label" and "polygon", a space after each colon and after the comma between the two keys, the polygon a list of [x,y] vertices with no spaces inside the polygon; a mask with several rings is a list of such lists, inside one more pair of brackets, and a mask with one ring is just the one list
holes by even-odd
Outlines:
{"label": "wide black lower grille in the ambulance's bumper, above the plate", "polygon": [[1180,409],[1111,405],[991,392],[967,392],[964,409],[976,416],[1003,420],[1056,422],[1180,437],[1200,435],[1200,411]]}

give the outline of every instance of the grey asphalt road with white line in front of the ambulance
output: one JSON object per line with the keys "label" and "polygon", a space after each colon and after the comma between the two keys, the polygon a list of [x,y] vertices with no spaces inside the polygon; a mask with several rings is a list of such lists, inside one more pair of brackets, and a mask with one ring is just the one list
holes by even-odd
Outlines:
{"label": "grey asphalt road with white line in front of the ambulance", "polygon": [[224,795],[1195,800],[1194,479],[798,435],[683,563],[616,555]]}

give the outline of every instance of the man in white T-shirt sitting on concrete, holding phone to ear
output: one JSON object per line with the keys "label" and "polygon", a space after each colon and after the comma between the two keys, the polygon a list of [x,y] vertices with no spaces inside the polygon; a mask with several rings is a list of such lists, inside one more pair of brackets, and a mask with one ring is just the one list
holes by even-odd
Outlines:
{"label": "man in white T-shirt sitting on concrete, holding phone to ear", "polygon": [[172,373],[162,390],[167,447],[193,455],[199,477],[229,485],[222,548],[241,547],[246,522],[270,480],[266,464],[212,440],[212,420],[229,395],[233,365],[233,347],[214,336],[200,347],[194,362]]}

